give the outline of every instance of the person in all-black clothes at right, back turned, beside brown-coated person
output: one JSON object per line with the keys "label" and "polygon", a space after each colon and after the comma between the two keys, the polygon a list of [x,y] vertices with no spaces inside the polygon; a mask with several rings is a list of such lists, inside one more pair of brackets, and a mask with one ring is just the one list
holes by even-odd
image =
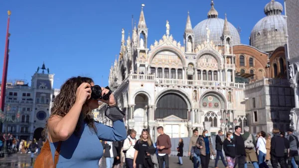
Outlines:
{"label": "person in all-black clothes at right, back turned, beside brown-coated person", "polygon": [[280,131],[277,128],[274,128],[273,137],[271,139],[271,164],[273,168],[278,168],[278,163],[281,165],[281,168],[287,168],[285,162],[285,140],[280,135]]}

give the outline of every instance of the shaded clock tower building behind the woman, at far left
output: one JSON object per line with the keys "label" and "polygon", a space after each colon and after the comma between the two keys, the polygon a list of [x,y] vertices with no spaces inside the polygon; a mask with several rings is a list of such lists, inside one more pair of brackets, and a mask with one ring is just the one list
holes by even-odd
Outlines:
{"label": "shaded clock tower building behind the woman, at far left", "polygon": [[[45,73],[45,71],[48,73]],[[42,65],[37,69],[31,79],[31,86],[24,81],[6,83],[5,112],[9,105],[9,116],[15,122],[8,122],[8,133],[13,134],[17,139],[31,140],[39,139],[41,132],[50,116],[50,108],[55,94],[59,90],[53,89],[54,74]],[[19,119],[16,114],[19,112]],[[1,123],[2,133],[6,131],[6,122]]]}

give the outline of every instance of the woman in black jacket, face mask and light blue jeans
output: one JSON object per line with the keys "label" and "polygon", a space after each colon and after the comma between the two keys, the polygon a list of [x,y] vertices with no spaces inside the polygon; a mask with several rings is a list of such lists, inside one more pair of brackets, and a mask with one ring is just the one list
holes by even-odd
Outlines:
{"label": "woman in black jacket, face mask and light blue jeans", "polygon": [[227,160],[228,168],[235,165],[236,149],[233,133],[227,132],[226,139],[223,141],[223,151]]}

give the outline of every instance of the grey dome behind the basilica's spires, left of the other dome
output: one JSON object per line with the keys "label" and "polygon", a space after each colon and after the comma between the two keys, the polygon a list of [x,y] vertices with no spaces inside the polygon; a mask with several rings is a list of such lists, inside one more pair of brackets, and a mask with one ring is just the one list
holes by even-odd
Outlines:
{"label": "grey dome behind the basilica's spires, left of the other dome", "polygon": [[[207,30],[210,29],[210,40],[213,40],[214,44],[222,45],[221,36],[223,34],[224,19],[218,18],[218,12],[214,8],[214,2],[212,0],[211,9],[208,12],[208,18],[199,22],[194,28],[193,33],[195,37],[195,46],[202,44],[207,40]],[[240,44],[240,35],[235,26],[228,22],[229,34],[233,37],[233,45]]]}

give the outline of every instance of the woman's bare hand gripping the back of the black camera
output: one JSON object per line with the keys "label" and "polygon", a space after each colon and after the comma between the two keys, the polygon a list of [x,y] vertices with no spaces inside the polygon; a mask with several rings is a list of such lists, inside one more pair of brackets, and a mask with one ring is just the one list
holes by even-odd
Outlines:
{"label": "woman's bare hand gripping the back of the black camera", "polygon": [[83,105],[86,100],[90,99],[91,85],[89,83],[82,83],[76,92],[76,103]]}

